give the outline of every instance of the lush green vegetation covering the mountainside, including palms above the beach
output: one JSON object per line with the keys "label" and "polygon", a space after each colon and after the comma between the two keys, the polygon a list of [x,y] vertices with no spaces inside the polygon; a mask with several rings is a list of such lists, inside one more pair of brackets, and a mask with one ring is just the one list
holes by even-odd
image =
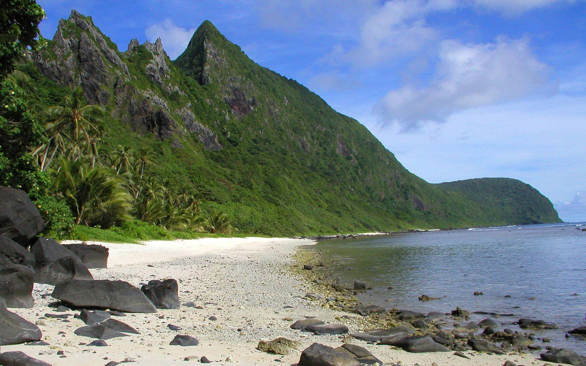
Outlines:
{"label": "lush green vegetation covering the mountainside, including palms above the beach", "polygon": [[[93,25],[91,18],[83,20]],[[67,20],[60,32],[74,39],[86,32],[96,49],[103,47],[97,29],[91,33]],[[22,126],[27,114],[36,121],[26,130],[36,137],[17,155],[43,182],[38,206],[54,236],[134,242],[205,232],[282,236],[558,220],[551,204],[524,194],[515,194],[512,203],[492,183],[490,199],[483,200],[425,182],[363,125],[296,81],[255,64],[212,23],[200,26],[176,61],[165,56],[163,83],[147,72],[160,56],[151,46],[120,53],[104,40],[124,67],[96,54],[108,70],[100,79],[101,92],[110,95],[103,105],[88,104],[87,89],[58,84],[32,62],[20,63],[6,81],[21,90],[15,93]],[[39,54],[62,67],[69,54],[57,47],[49,41]],[[118,81],[126,72],[130,77]],[[128,88],[137,93],[118,100]],[[166,135],[160,125],[132,122],[128,105],[144,95],[156,95],[162,101],[157,108],[172,118]],[[191,112],[193,123],[209,129],[222,148],[207,149],[181,111]],[[36,180],[19,184],[30,193]]]}

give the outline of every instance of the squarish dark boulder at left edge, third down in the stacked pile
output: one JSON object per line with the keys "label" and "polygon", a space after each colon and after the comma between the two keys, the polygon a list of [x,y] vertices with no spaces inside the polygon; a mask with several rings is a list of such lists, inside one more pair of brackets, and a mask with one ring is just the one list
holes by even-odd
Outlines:
{"label": "squarish dark boulder at left edge, third down in the stacked pile", "polygon": [[0,255],[0,297],[8,307],[33,307],[33,276],[35,272],[27,266],[13,264],[8,257]]}

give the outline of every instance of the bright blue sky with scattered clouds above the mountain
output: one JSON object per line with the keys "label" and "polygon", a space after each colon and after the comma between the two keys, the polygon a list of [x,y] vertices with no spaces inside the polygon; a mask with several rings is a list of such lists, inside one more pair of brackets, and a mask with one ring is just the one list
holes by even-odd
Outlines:
{"label": "bright blue sky with scattered clouds above the mountain", "polygon": [[512,177],[586,221],[586,0],[42,0],[171,59],[203,20],[431,183]]}

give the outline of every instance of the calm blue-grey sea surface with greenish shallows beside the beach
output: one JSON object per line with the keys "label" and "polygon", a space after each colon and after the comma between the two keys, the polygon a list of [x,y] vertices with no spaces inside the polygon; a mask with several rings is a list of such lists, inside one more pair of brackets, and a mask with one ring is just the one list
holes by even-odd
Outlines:
{"label": "calm blue-grey sea surface with greenish shallows beside the beach", "polygon": [[[520,330],[510,325],[520,317],[541,319],[560,329],[532,331],[536,336],[583,353],[585,340],[564,337],[565,331],[586,325],[582,228],[584,223],[565,223],[413,232],[328,240],[312,248],[332,257],[340,280],[360,279],[372,286],[359,296],[366,304],[419,312],[449,312],[460,306],[470,312],[515,314],[496,319],[508,323],[499,329]],[[484,295],[473,296],[475,291]],[[424,294],[441,299],[418,301]],[[472,320],[485,317],[474,315]]]}

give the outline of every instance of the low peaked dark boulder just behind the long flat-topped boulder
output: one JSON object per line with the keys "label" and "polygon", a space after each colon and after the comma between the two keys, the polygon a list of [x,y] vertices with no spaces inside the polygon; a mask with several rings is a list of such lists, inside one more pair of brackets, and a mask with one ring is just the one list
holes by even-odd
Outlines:
{"label": "low peaked dark boulder just behind the long flat-topped boulder", "polygon": [[65,256],[50,262],[35,273],[35,283],[46,283],[47,285],[56,286],[59,283],[71,281],[72,279],[81,279],[91,281],[94,277],[86,266],[77,259]]}

